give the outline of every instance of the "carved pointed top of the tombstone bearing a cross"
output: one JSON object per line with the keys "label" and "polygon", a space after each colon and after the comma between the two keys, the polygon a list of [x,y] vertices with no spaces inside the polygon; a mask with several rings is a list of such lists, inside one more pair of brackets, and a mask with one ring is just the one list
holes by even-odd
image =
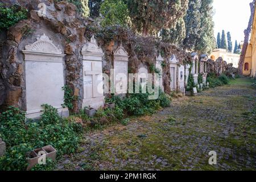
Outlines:
{"label": "carved pointed top of the tombstone bearing a cross", "polygon": [[84,60],[96,60],[102,61],[102,56],[104,55],[102,49],[98,47],[96,39],[94,36],[90,39],[90,42],[87,42],[81,51]]}

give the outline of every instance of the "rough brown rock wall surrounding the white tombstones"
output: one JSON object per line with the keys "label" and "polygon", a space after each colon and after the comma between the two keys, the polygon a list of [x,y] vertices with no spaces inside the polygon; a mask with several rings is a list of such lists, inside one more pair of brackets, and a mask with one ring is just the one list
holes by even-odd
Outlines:
{"label": "rough brown rock wall surrounding the white tombstones", "polygon": [[[166,93],[170,93],[170,57],[175,55],[179,64],[191,61],[189,53],[175,46],[162,43],[156,38],[143,38],[131,31],[119,28],[119,32],[110,37],[92,30],[97,26],[92,19],[83,19],[76,13],[76,6],[68,2],[51,0],[36,1],[5,1],[7,6],[19,2],[28,10],[28,19],[21,20],[9,31],[0,33],[0,109],[9,105],[26,110],[26,77],[24,74],[24,54],[22,50],[36,38],[46,34],[54,44],[65,53],[65,84],[73,90],[77,100],[73,102],[73,112],[78,112],[82,106],[83,73],[81,49],[90,37],[96,35],[99,46],[105,53],[103,71],[110,75],[113,68],[113,51],[123,44],[129,54],[129,72],[138,72],[139,65],[144,63],[155,65],[160,52],[164,54],[163,85]],[[46,15],[38,15],[39,3],[46,4]],[[97,27],[99,29],[99,27]],[[100,27],[101,28],[101,27]],[[106,42],[105,39],[110,39]],[[149,70],[148,70],[149,71]]]}

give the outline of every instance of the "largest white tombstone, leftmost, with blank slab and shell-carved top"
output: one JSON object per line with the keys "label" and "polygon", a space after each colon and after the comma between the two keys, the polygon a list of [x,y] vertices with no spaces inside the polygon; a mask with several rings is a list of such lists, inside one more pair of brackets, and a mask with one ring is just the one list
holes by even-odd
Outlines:
{"label": "largest white tombstone, leftmost, with blank slab and shell-carved top", "polygon": [[46,35],[27,45],[24,53],[26,117],[40,118],[42,104],[55,107],[62,117],[69,115],[64,103],[64,54]]}

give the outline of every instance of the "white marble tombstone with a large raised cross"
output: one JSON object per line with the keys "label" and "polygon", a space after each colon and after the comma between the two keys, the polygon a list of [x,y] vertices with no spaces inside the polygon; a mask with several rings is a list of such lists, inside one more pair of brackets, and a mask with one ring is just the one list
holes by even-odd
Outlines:
{"label": "white marble tombstone with a large raised cross", "polygon": [[98,109],[104,106],[104,90],[102,76],[102,57],[104,53],[98,47],[94,36],[90,42],[86,43],[82,48],[83,56],[83,82],[84,82],[84,98],[82,100],[82,108],[93,107]]}

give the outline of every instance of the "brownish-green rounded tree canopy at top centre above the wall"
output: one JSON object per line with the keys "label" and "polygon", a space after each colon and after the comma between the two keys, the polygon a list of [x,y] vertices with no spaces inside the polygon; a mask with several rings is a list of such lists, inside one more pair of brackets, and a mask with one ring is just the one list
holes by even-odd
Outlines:
{"label": "brownish-green rounded tree canopy at top centre above the wall", "polygon": [[133,27],[144,36],[175,27],[187,5],[188,0],[127,0]]}

